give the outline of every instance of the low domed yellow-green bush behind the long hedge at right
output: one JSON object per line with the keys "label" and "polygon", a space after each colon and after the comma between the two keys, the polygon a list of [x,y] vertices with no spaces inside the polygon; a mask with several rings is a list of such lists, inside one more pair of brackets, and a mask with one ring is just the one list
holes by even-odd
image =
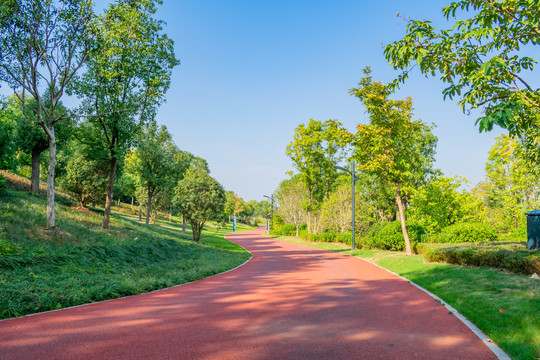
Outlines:
{"label": "low domed yellow-green bush behind the long hedge at right", "polygon": [[457,223],[445,227],[441,233],[432,238],[434,242],[463,243],[496,241],[498,234],[489,225],[482,223]]}

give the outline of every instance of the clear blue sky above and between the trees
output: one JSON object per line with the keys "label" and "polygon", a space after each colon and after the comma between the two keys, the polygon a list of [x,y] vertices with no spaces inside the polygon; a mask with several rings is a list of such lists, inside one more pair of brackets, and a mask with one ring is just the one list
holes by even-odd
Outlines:
{"label": "clear blue sky above and between the trees", "polygon": [[[98,1],[97,9],[107,3]],[[285,148],[295,127],[310,118],[338,119],[356,132],[368,115],[348,90],[357,86],[362,69],[371,66],[376,79],[393,80],[398,72],[384,60],[383,46],[405,34],[402,17],[441,25],[447,4],[164,0],[156,17],[167,22],[181,65],[173,70],[157,121],[181,149],[206,159],[225,189],[246,201],[262,200],[293,169]],[[530,50],[533,58],[540,57],[536,48]],[[414,117],[435,123],[435,167],[474,185],[483,179],[488,151],[502,131],[479,134],[479,114],[463,114],[457,100],[443,100],[442,89],[437,78],[416,72],[395,98],[411,95]]]}

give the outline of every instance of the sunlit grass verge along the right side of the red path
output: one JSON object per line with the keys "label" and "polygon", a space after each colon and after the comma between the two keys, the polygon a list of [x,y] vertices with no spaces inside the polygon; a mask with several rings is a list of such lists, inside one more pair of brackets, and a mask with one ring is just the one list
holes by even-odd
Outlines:
{"label": "sunlit grass verge along the right side of the red path", "polygon": [[339,243],[280,240],[357,256],[393,271],[436,294],[493,339],[512,359],[540,358],[540,280],[497,270],[441,263],[421,255],[351,250]]}

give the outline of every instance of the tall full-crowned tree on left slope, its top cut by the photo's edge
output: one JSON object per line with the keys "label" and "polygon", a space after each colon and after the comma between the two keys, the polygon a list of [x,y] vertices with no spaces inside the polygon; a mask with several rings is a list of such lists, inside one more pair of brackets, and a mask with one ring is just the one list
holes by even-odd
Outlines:
{"label": "tall full-crowned tree on left slope, its top cut by the photo's edge", "polygon": [[133,145],[142,125],[153,120],[179,62],[173,41],[153,18],[158,0],[118,0],[98,19],[87,72],[75,91],[82,111],[101,131],[109,152],[109,182],[103,228],[109,227],[118,161]]}

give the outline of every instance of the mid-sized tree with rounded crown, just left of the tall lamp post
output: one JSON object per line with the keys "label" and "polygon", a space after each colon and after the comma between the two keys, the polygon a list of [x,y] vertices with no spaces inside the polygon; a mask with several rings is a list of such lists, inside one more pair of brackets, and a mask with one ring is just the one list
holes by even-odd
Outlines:
{"label": "mid-sized tree with rounded crown, just left of the tall lamp post", "polygon": [[296,127],[293,141],[287,146],[285,153],[299,171],[308,193],[310,233],[318,231],[318,226],[312,223],[313,214],[332,190],[338,176],[334,166],[344,156],[349,140],[350,134],[339,121],[330,119],[323,123],[310,119],[307,125]]}

